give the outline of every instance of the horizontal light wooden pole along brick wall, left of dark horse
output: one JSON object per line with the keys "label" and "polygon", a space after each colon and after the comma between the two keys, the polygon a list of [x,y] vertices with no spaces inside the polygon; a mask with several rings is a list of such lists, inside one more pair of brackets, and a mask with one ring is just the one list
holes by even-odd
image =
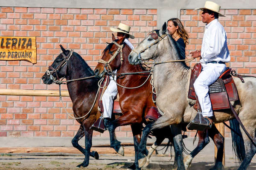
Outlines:
{"label": "horizontal light wooden pole along brick wall, left of dark horse", "polygon": [[[59,96],[56,90],[20,90],[20,89],[0,89],[0,95],[12,96]],[[61,91],[61,96],[69,97],[68,91]]]}

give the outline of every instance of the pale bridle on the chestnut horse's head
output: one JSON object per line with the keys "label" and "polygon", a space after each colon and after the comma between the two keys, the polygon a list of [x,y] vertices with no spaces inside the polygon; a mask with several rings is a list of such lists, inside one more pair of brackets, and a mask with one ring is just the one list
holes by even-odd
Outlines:
{"label": "pale bridle on the chestnut horse's head", "polygon": [[116,50],[116,52],[114,53],[114,55],[108,60],[108,61],[105,61],[103,59],[99,59],[98,63],[102,63],[102,64],[105,64],[104,65],[104,72],[107,73],[107,74],[112,74],[113,75],[113,70],[110,66],[110,63],[113,61],[113,59],[119,54],[120,52],[120,60],[121,60],[121,65],[122,65],[122,61],[123,61],[123,57],[122,57],[122,48],[123,48],[123,45],[119,45],[117,42],[113,41],[113,43],[118,46],[118,49]]}

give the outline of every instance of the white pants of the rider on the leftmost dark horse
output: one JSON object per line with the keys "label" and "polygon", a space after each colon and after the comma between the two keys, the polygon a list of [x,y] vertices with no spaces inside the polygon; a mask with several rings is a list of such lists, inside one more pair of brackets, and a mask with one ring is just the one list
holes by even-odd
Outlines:
{"label": "white pants of the rider on the leftmost dark horse", "polygon": [[113,112],[113,104],[114,99],[117,96],[117,86],[116,82],[113,80],[113,77],[110,76],[110,81],[107,89],[105,90],[104,94],[102,95],[102,104],[104,108],[103,117],[104,118],[111,118]]}

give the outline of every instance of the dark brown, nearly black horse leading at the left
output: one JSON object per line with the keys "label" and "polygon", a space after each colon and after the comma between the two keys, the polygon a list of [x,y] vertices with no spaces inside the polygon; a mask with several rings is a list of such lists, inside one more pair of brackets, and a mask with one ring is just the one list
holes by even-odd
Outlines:
{"label": "dark brown, nearly black horse leading at the left", "polygon": [[[42,77],[45,84],[52,84],[52,79],[60,79],[62,77],[65,77],[66,80],[72,80],[94,75],[94,72],[79,54],[75,52],[71,53],[71,51],[65,50],[62,46],[61,50],[63,51],[63,55],[60,54],[56,57],[47,70],[48,74],[46,72]],[[67,83],[68,92],[73,103],[74,116],[84,116],[81,119],[76,119],[77,122],[80,123],[80,128],[72,140],[73,146],[80,150],[85,156],[83,163],[79,164],[77,167],[87,167],[90,156],[99,159],[99,155],[96,151],[90,152],[93,134],[93,130],[91,130],[90,127],[100,116],[97,101],[96,104],[93,105],[93,99],[96,97],[98,91],[98,81],[98,78],[93,77]],[[91,107],[93,108],[90,111]],[[85,116],[89,111],[90,113]],[[83,136],[85,136],[85,149],[78,144],[79,139]]]}

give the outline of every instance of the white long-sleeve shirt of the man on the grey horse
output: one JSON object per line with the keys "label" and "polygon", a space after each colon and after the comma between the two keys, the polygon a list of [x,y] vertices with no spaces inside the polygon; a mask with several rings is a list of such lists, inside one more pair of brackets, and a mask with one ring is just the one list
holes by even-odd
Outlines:
{"label": "white long-sleeve shirt of the man on the grey horse", "polygon": [[200,62],[230,61],[230,53],[227,48],[227,35],[224,27],[218,19],[212,20],[205,26],[204,37],[201,47]]}

